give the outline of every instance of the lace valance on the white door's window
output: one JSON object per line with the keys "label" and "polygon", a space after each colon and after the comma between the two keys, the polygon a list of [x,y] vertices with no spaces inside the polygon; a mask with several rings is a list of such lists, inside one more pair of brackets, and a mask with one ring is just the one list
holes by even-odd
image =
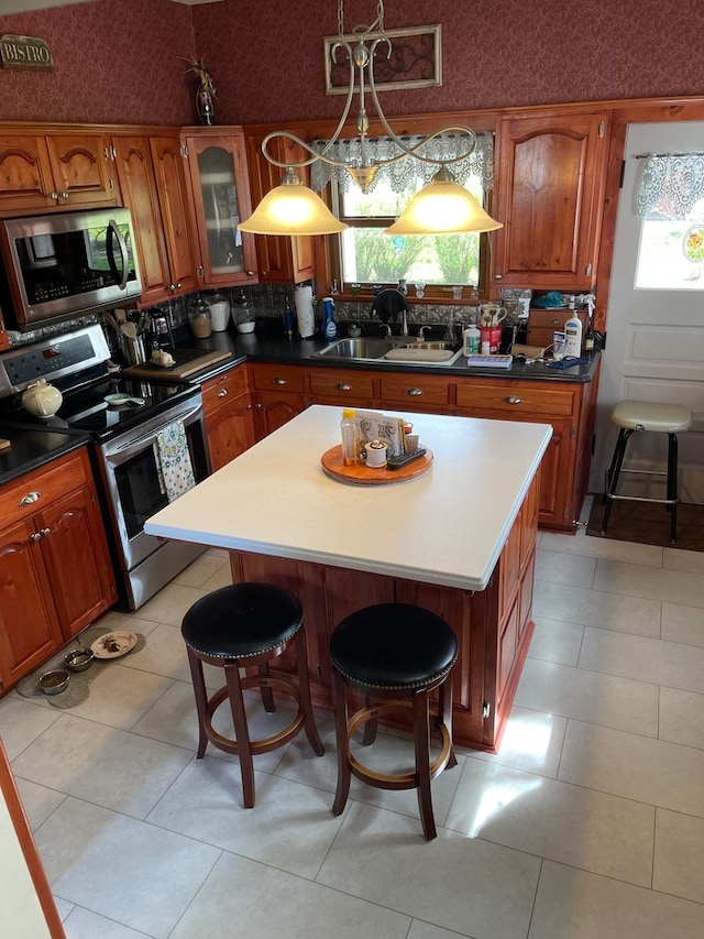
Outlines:
{"label": "lace valance on the white door's window", "polygon": [[686,219],[704,199],[704,153],[656,153],[644,159],[638,215]]}

